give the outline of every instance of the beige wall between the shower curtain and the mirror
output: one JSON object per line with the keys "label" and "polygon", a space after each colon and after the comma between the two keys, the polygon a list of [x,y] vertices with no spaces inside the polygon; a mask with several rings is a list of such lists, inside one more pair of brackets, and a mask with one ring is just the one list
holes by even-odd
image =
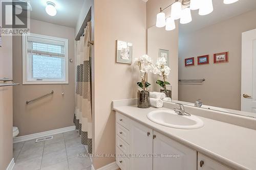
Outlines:
{"label": "beige wall between the shower curtain and the mirror", "polygon": [[[136,98],[139,75],[116,63],[116,40],[133,43],[133,58],[146,54],[146,4],[141,0],[95,0],[96,154],[115,154],[115,112],[111,101]],[[95,169],[115,158],[94,158]]]}

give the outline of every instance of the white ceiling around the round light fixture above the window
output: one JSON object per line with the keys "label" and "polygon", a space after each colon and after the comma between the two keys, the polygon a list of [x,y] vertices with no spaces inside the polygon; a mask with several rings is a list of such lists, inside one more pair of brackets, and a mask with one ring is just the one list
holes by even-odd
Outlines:
{"label": "white ceiling around the round light fixture above the window", "polygon": [[[57,8],[57,15],[46,13],[46,2],[53,2]],[[76,22],[84,0],[30,0],[32,19],[54,23],[56,25],[76,27]]]}

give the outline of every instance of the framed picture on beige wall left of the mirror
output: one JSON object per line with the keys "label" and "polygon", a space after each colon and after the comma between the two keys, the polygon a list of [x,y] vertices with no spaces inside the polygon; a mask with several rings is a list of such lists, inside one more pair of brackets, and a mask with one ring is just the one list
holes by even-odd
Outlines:
{"label": "framed picture on beige wall left of the mirror", "polygon": [[130,42],[117,40],[116,62],[132,64],[133,44]]}

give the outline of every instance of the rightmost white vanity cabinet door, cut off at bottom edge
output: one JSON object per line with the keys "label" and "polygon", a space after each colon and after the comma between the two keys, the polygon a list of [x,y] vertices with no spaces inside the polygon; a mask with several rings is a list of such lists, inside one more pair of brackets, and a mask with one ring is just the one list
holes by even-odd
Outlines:
{"label": "rightmost white vanity cabinet door, cut off at bottom edge", "polygon": [[229,167],[198,153],[198,170],[231,170]]}

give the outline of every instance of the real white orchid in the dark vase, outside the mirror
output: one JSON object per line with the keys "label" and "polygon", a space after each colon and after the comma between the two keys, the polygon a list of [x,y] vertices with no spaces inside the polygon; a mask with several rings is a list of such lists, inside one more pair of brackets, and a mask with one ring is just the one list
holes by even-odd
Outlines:
{"label": "real white orchid in the dark vase, outside the mirror", "polygon": [[152,59],[148,55],[143,55],[140,58],[135,58],[135,63],[139,67],[141,82],[137,85],[145,91],[151,84],[147,82],[147,72],[153,72],[154,65]]}

